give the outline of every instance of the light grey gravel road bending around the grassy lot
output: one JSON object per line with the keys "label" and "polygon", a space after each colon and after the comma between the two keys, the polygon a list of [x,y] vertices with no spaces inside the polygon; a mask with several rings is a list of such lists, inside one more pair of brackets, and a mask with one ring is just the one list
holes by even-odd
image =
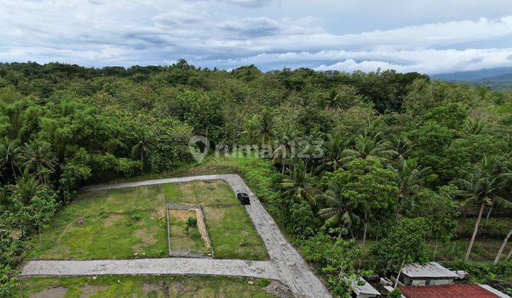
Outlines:
{"label": "light grey gravel road bending around the grassy lot", "polygon": [[270,261],[212,260],[193,258],[165,258],[142,260],[90,261],[30,261],[23,267],[21,277],[65,275],[136,275],[136,274],[206,274],[266,277],[281,280],[297,297],[331,297],[329,291],[311,272],[297,250],[284,238],[272,217],[263,208],[255,194],[238,175],[206,175],[160,180],[146,180],[86,187],[98,191],[144,185],[191,182],[194,180],[224,180],[233,192],[247,192],[251,204],[245,205],[255,228],[267,246]]}

